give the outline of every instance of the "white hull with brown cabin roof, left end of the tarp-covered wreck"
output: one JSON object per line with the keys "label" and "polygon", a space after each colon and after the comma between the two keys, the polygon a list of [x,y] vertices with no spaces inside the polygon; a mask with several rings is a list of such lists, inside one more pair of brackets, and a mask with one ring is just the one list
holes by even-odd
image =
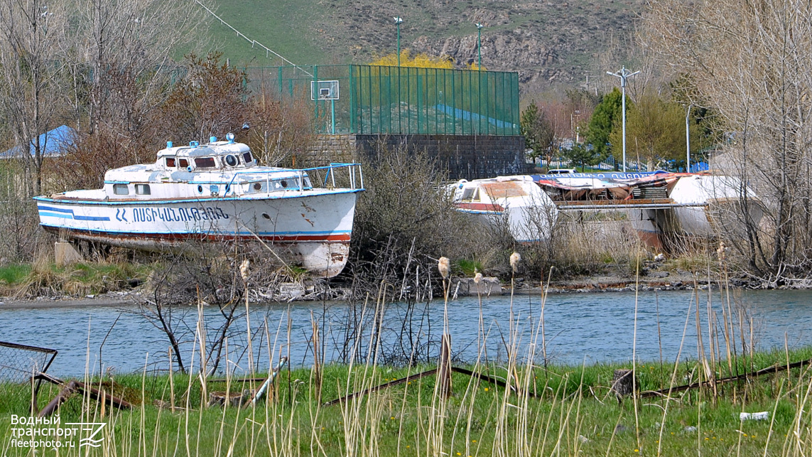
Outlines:
{"label": "white hull with brown cabin roof, left end of the tarp-covered wreck", "polygon": [[549,239],[558,210],[532,176],[461,179],[449,186],[457,211],[479,222],[505,224],[520,243]]}

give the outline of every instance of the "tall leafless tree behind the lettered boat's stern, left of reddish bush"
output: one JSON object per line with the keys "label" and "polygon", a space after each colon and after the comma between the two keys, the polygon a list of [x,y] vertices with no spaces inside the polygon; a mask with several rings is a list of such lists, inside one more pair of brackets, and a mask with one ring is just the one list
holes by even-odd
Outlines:
{"label": "tall leafless tree behind the lettered boat's stern, left of reddish bush", "polygon": [[[77,119],[87,119],[91,133],[109,126],[126,138],[164,99],[177,70],[171,53],[195,38],[200,8],[161,0],[77,0],[74,7],[84,27],[68,44],[78,53],[76,84],[87,97],[76,103]],[[77,89],[75,97],[82,94]]]}

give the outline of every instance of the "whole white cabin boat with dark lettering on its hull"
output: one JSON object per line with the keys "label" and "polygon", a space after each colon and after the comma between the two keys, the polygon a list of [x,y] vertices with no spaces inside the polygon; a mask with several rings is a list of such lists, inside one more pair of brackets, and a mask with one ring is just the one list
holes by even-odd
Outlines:
{"label": "whole white cabin boat with dark lettering on its hull", "polygon": [[[344,187],[336,186],[336,182]],[[361,166],[258,166],[248,145],[158,151],[108,170],[104,188],[37,196],[40,225],[70,240],[158,251],[190,240],[261,240],[284,261],[330,278],[347,263]]]}

